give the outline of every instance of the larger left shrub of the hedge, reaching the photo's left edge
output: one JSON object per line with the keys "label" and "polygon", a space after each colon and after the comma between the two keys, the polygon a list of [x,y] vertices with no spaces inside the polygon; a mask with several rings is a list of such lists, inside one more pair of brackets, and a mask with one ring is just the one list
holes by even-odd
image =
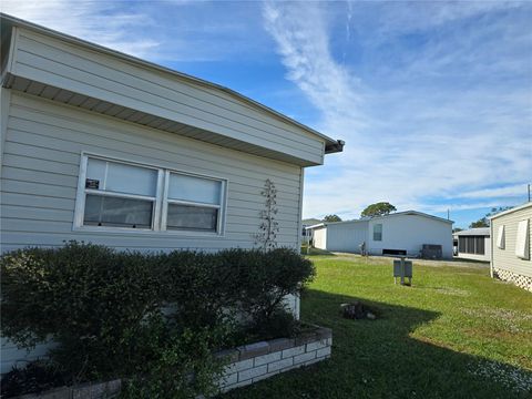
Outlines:
{"label": "larger left shrub of the hedge, reaching the photo's left edge", "polygon": [[141,321],[157,313],[156,256],[69,243],[1,258],[3,334],[31,347],[51,338],[52,355],[74,378],[124,369]]}

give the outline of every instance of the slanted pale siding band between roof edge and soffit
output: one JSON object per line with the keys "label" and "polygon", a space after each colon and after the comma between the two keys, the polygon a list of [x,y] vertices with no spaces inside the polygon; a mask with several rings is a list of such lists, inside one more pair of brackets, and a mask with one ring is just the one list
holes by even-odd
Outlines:
{"label": "slanted pale siding band between roof edge and soffit", "polygon": [[[193,86],[192,83],[181,82],[178,78],[170,79],[164,73],[147,71],[105,54],[86,51],[81,47],[74,48],[27,31],[21,33],[18,52],[19,57],[13,71],[17,75],[219,132],[266,149],[286,152],[309,162],[323,163],[324,140],[321,137],[313,136],[303,129],[277,121],[275,117],[265,117],[264,112],[253,109],[246,108],[245,113],[235,112],[235,103],[222,96],[213,96],[207,91]],[[57,59],[65,59],[63,61],[68,64],[58,63]],[[99,63],[91,68],[90,72],[82,73],[83,65],[96,59]],[[125,70],[127,73],[124,72]],[[91,73],[93,78],[88,79],[86,73]],[[98,83],[99,80],[101,80],[100,83]],[[105,81],[108,81],[106,85],[102,83]],[[111,91],[110,84],[120,86],[120,90],[115,88]],[[137,86],[144,88],[144,95],[136,93]],[[166,88],[176,88],[176,90],[168,91]],[[186,88],[187,93],[177,93],[181,88]],[[129,91],[135,91],[136,94],[132,92],[124,95]],[[163,92],[164,96],[160,95]],[[157,99],[150,100],[153,95],[149,93],[154,93]],[[181,100],[181,104],[175,101],[177,94],[186,99]],[[198,105],[195,109],[187,108],[186,104],[192,102],[197,102]],[[205,114],[206,111],[208,115]],[[255,120],[249,120],[247,115],[253,115]],[[269,131],[263,120],[272,122]],[[257,130],[259,125],[264,130]],[[274,132],[278,133],[274,134]]]}

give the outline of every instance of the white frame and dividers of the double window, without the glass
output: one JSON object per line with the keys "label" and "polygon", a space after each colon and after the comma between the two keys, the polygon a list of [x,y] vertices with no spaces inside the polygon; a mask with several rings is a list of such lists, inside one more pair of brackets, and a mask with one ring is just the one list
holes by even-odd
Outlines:
{"label": "white frame and dividers of the double window, without the glass", "polygon": [[[85,188],[85,178],[86,178],[86,167],[89,158],[96,158],[102,161],[122,163],[125,165],[133,165],[140,167],[146,167],[157,171],[157,190],[155,197],[137,194],[124,194],[124,193],[105,193],[98,190]],[[101,155],[90,152],[81,153],[80,162],[80,174],[78,178],[78,192],[75,196],[75,207],[74,207],[74,222],[72,231],[74,232],[95,232],[95,233],[114,233],[114,234],[136,234],[136,235],[176,235],[176,236],[187,236],[187,237],[224,237],[225,236],[225,221],[227,215],[227,188],[228,180],[224,177],[213,176],[213,175],[203,175],[198,173],[191,173],[187,171],[180,171],[172,167],[154,164],[144,164],[131,160],[125,160],[122,157],[114,157],[108,155]],[[193,177],[207,178],[221,182],[221,204],[202,204],[195,202],[168,200],[168,181],[170,173],[182,174]],[[111,226],[88,226],[83,225],[83,216],[85,209],[85,194],[98,194],[98,195],[108,195],[114,197],[132,198],[132,200],[149,200],[154,202],[153,207],[153,219],[152,228],[131,228],[131,227],[111,227]],[[180,231],[180,229],[166,229],[166,212],[167,204],[170,203],[180,203],[192,206],[203,206],[203,207],[216,207],[218,208],[218,222],[216,226],[216,232],[201,232],[201,231]]]}

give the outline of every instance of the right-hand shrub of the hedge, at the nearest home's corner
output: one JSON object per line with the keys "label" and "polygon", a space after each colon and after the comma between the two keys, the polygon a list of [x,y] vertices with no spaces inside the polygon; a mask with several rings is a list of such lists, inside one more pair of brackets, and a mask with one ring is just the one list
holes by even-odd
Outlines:
{"label": "right-hand shrub of the hedge, at the nearest home's corner", "polygon": [[[236,328],[235,320],[244,318],[253,330],[267,329],[274,314],[286,310],[286,296],[298,294],[315,275],[311,262],[288,248],[173,252],[163,258],[164,297],[178,304],[173,317],[196,327],[223,321]],[[286,329],[294,319],[285,319]]]}

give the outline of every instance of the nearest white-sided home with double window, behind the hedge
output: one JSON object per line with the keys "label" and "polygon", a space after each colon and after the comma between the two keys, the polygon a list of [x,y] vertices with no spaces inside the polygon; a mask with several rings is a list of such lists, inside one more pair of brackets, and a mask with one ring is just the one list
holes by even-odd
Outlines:
{"label": "nearest white-sided home with double window, behind the hedge", "polygon": [[[304,168],[341,141],[229,89],[9,16],[0,22],[2,252],[71,239],[252,248],[267,180],[277,245],[299,247]],[[21,357],[2,341],[1,371]]]}

